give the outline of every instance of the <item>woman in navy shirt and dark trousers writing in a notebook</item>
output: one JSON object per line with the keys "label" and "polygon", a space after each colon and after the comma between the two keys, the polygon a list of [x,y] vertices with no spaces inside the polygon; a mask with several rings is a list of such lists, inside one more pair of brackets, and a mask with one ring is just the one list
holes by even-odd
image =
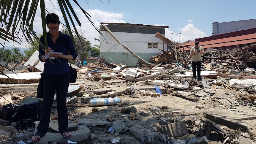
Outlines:
{"label": "woman in navy shirt and dark trousers writing in a notebook", "polygon": [[[39,46],[39,59],[44,62],[43,76],[43,104],[41,109],[40,122],[37,126],[37,132],[32,137],[32,141],[37,142],[44,136],[49,127],[50,113],[53,104],[53,97],[57,96],[57,110],[59,120],[59,132],[64,138],[70,136],[68,128],[67,114],[67,91],[70,82],[70,73],[68,60],[75,60],[77,57],[72,39],[67,34],[59,31],[59,16],[51,13],[46,16],[46,25],[49,29],[47,33],[47,49]],[[44,37],[40,38],[44,44]],[[50,54],[49,52],[59,52],[59,54]],[[45,56],[54,57],[51,59]]]}

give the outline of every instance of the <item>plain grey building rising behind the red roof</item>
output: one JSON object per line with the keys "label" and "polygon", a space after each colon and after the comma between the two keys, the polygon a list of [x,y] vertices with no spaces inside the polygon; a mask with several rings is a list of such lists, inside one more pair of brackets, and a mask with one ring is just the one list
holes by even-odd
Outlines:
{"label": "plain grey building rising behind the red roof", "polygon": [[238,20],[224,23],[214,22],[212,23],[212,35],[215,36],[253,28],[256,28],[256,19]]}

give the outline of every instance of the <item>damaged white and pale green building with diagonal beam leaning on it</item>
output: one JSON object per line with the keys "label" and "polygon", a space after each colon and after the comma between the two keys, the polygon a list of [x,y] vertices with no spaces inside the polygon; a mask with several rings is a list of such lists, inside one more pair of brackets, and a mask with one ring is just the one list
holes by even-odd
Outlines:
{"label": "damaged white and pale green building with diagonal beam leaning on it", "polygon": [[[156,33],[165,34],[168,26],[150,26],[129,23],[101,23],[110,29],[115,37],[129,50],[143,60],[150,62],[150,57],[162,53],[159,49],[164,48],[163,41],[158,39]],[[100,26],[100,58],[106,61],[122,63],[127,66],[136,66],[138,58],[124,49],[110,33]]]}

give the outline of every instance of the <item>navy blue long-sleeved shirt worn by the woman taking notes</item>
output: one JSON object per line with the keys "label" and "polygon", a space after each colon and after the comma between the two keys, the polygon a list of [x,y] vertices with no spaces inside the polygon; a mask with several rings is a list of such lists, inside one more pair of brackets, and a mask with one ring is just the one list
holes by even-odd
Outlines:
{"label": "navy blue long-sleeved shirt worn by the woman taking notes", "polygon": [[[42,36],[40,38],[40,41],[45,44],[44,37]],[[75,51],[75,46],[72,42],[72,39],[69,35],[67,34],[62,34],[60,32],[60,36],[56,39],[55,44],[53,44],[53,41],[51,39],[51,34],[50,32],[47,33],[47,42],[48,46],[54,52],[61,52],[64,55],[72,55],[73,59],[77,57],[76,51]],[[42,61],[42,55],[45,54],[45,51],[43,50],[42,46],[39,45],[39,60]],[[55,59],[46,59],[44,65],[44,74],[46,75],[64,75],[67,72],[69,72],[69,64],[68,60],[64,58],[55,58]]]}

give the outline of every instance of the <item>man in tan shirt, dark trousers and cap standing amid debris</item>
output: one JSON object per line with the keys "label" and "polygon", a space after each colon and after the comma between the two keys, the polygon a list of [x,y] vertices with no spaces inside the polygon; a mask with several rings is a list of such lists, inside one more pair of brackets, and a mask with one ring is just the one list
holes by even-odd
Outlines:
{"label": "man in tan shirt, dark trousers and cap standing amid debris", "polygon": [[195,46],[191,48],[190,55],[192,56],[192,72],[193,77],[196,78],[196,68],[197,68],[197,80],[202,80],[201,78],[201,64],[202,64],[202,54],[204,54],[203,47],[199,45],[199,42],[195,42]]}

